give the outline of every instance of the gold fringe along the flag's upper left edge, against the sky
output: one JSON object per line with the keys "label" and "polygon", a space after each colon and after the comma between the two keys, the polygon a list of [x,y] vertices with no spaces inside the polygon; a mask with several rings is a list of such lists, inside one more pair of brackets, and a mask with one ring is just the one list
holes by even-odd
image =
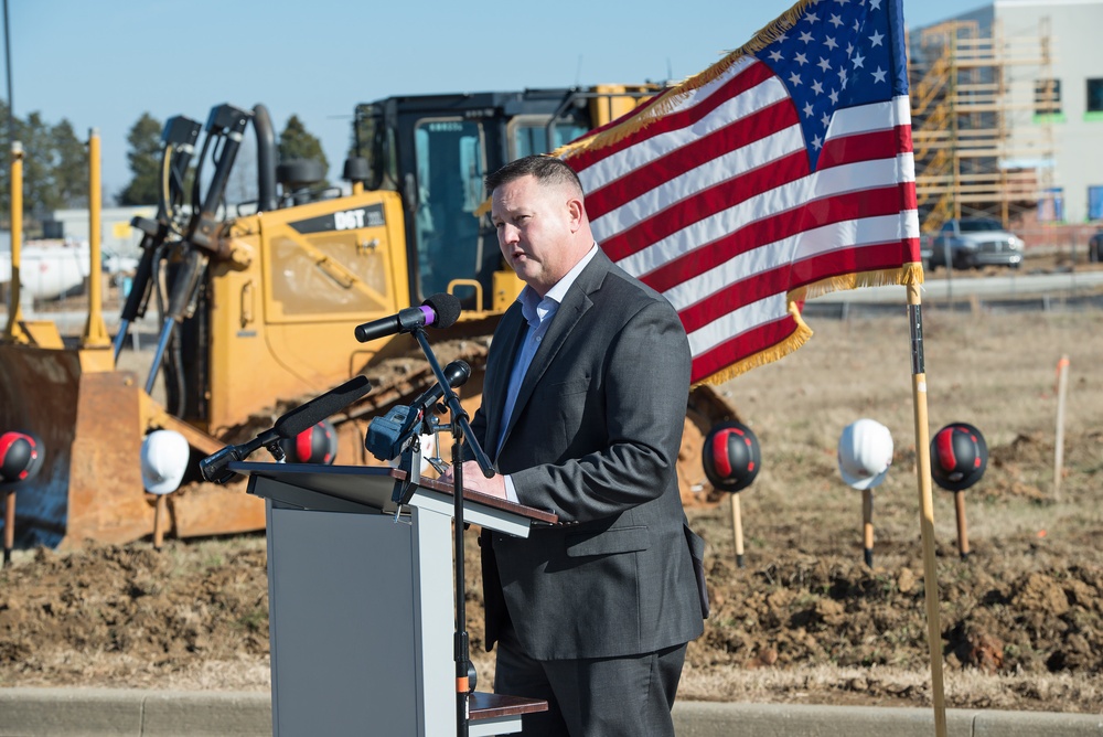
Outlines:
{"label": "gold fringe along the flag's upper left edge, against the sky", "polygon": [[765,49],[771,43],[781,38],[783,33],[796,25],[804,10],[814,4],[817,0],[800,0],[795,6],[786,10],[781,17],[754,34],[754,38],[745,43],[739,49],[729,52],[724,58],[713,64],[704,72],[699,72],[692,77],[687,77],[682,83],[662,93],[658,98],[645,107],[642,111],[628,113],[623,121],[600,133],[595,133],[589,138],[560,146],[548,156],[557,158],[570,157],[581,151],[600,149],[612,146],[638,130],[646,128],[657,118],[667,115],[679,106],[689,96],[689,93],[704,87],[710,82],[715,82],[724,76],[724,73],[731,68],[731,65],[748,54],[753,54]]}

